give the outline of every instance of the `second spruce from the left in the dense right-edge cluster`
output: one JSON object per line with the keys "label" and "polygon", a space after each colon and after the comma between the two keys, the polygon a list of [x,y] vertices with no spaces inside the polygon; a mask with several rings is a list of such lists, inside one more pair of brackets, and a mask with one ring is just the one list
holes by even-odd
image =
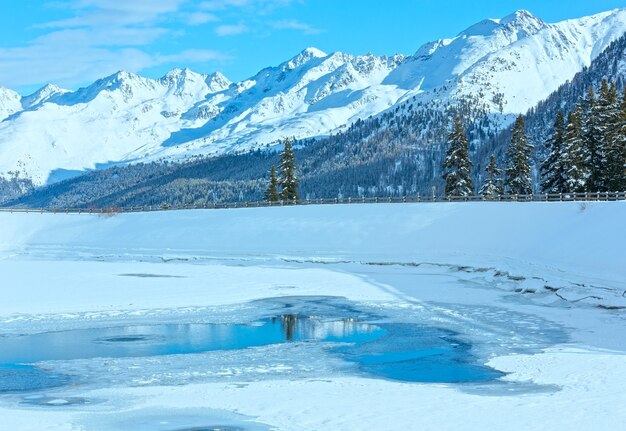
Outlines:
{"label": "second spruce from the left in the dense right-edge cluster", "polygon": [[563,139],[564,165],[567,177],[564,193],[584,192],[589,179],[582,116],[582,107],[577,105],[576,110],[570,112],[567,118],[567,127]]}

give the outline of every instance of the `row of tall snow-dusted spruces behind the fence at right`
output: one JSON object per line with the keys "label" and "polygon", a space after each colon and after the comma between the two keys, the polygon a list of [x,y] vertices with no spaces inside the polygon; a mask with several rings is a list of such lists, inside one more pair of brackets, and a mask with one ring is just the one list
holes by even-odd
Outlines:
{"label": "row of tall snow-dusted spruces behind the fence at right", "polygon": [[[448,151],[442,168],[445,193],[470,196],[472,161],[460,117],[448,135]],[[545,142],[549,153],[541,163],[542,193],[617,192],[626,190],[626,89],[620,97],[614,82],[603,80],[599,94],[590,87],[575,109],[558,111],[554,130]],[[513,125],[503,169],[489,158],[479,194],[532,194],[533,146],[520,115]]]}

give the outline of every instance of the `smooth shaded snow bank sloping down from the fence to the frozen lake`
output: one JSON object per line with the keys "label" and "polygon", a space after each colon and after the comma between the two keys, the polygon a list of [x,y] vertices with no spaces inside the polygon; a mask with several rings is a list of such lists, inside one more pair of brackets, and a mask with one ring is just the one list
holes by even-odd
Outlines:
{"label": "smooth shaded snow bank sloping down from the fence to the frozen lake", "polygon": [[551,268],[626,276],[626,202],[330,205],[120,214],[0,214],[0,251]]}

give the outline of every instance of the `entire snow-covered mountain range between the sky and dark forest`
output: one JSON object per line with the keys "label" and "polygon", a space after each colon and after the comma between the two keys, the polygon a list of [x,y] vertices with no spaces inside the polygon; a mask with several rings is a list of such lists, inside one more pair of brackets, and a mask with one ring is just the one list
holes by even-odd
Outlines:
{"label": "entire snow-covered mountain range between the sky and dark forest", "polygon": [[174,69],[118,72],[77,91],[0,88],[0,174],[43,184],[109,162],[219,154],[328,134],[405,100],[479,97],[502,122],[526,111],[626,32],[626,9],[547,24],[527,11],[477,23],[408,57],[315,48],[231,83]]}

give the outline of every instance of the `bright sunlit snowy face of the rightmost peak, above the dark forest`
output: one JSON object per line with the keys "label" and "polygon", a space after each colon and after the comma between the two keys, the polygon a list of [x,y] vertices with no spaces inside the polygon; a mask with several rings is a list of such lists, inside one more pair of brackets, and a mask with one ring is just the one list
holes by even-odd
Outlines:
{"label": "bright sunlit snowy face of the rightmost peak, above the dark forest", "polygon": [[624,10],[545,24],[532,38],[474,64],[460,76],[454,94],[482,90],[487,99],[502,94],[504,112],[526,112],[588,67],[625,30]]}

